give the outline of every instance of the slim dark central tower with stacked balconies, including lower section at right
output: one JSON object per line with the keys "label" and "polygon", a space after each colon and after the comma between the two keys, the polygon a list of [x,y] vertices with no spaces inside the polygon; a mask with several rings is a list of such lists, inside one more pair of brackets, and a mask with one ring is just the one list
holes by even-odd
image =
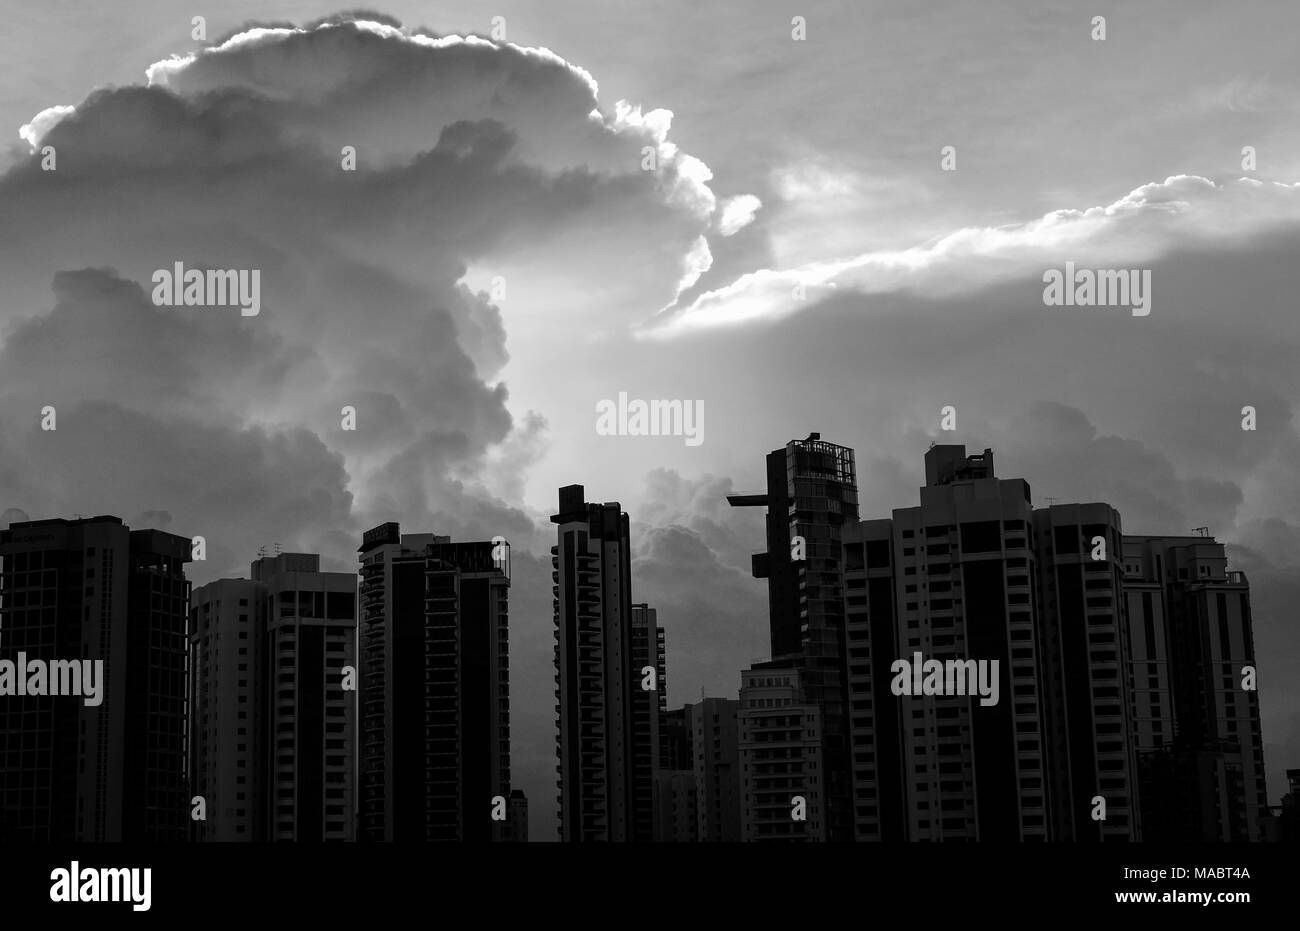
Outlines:
{"label": "slim dark central tower with stacked balconies, including lower section at right", "polygon": [[628,515],[567,485],[551,521],[559,836],[649,841],[659,698],[642,681],[659,638],[653,615],[633,611]]}

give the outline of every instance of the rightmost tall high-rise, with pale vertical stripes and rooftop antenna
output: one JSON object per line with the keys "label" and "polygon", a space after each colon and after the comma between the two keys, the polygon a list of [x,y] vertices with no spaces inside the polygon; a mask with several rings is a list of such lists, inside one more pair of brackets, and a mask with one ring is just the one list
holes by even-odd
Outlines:
{"label": "rightmost tall high-rise, with pale vertical stripes and rooftop antenna", "polygon": [[[1245,573],[1210,537],[1123,537],[1147,840],[1264,840],[1268,791]],[[1249,687],[1247,683],[1252,683]]]}

